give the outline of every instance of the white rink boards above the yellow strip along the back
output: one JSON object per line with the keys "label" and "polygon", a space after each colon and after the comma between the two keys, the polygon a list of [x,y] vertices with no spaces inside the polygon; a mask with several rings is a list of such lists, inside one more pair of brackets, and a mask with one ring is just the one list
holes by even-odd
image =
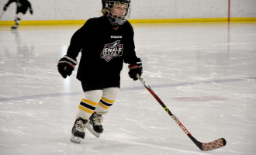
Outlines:
{"label": "white rink boards above the yellow strip along the back", "polygon": [[[0,1],[0,7],[7,0]],[[101,15],[101,0],[29,0],[34,14],[22,20],[84,20]],[[230,17],[256,17],[255,0],[230,0]],[[12,3],[3,21],[14,19]],[[227,18],[228,0],[132,0],[130,19],[200,19]]]}

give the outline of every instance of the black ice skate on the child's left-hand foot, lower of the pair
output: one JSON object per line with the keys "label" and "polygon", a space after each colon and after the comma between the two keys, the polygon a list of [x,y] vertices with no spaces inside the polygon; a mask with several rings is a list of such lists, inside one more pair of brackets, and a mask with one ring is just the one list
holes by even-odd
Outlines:
{"label": "black ice skate on the child's left-hand foot, lower of the pair", "polygon": [[78,118],[74,122],[71,134],[71,142],[80,143],[81,139],[85,138],[85,124],[88,122],[86,119]]}

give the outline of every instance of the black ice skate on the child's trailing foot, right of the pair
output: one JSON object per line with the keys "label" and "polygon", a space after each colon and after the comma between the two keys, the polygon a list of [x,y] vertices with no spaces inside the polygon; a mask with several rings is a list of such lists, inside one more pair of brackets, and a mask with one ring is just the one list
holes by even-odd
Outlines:
{"label": "black ice skate on the child's trailing foot, right of the pair", "polygon": [[90,122],[85,125],[85,127],[96,137],[100,136],[100,133],[103,132],[102,127],[102,115],[97,114],[94,112],[90,117]]}

